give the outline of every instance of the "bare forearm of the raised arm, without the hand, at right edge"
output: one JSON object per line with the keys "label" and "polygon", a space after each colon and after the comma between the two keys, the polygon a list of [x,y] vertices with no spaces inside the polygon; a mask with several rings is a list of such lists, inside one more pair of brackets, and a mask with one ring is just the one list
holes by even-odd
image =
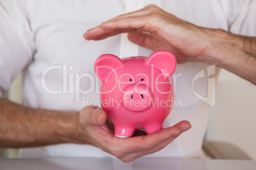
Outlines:
{"label": "bare forearm of the raised arm, without the hand, at right edge", "polygon": [[201,62],[215,63],[256,84],[256,37],[211,29],[207,29],[206,34],[209,41]]}

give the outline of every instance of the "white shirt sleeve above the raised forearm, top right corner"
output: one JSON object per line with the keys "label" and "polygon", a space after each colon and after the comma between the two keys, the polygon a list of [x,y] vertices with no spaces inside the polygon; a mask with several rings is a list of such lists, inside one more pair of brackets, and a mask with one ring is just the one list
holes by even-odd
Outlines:
{"label": "white shirt sleeve above the raised forearm, top right corner", "polygon": [[230,3],[229,30],[243,36],[256,36],[256,1],[234,0]]}

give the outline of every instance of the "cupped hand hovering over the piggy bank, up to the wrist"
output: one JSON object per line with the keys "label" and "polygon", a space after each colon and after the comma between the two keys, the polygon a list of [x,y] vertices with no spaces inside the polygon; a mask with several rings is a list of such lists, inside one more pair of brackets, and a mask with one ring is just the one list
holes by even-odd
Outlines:
{"label": "cupped hand hovering over the piggy bank, up to the wrist", "polygon": [[171,51],[178,63],[203,60],[208,46],[206,29],[185,22],[155,5],[103,22],[87,30],[83,36],[87,40],[100,40],[123,32],[129,32],[129,40],[139,46],[153,51]]}

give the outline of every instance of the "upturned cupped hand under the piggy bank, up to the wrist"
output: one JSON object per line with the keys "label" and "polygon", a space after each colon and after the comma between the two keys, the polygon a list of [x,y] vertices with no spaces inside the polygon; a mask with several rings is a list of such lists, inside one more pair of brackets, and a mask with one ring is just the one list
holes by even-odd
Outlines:
{"label": "upturned cupped hand under the piggy bank, up to the wrist", "polygon": [[[124,162],[131,162],[144,155],[152,154],[166,147],[181,133],[191,128],[188,121],[181,121],[173,127],[159,132],[131,138],[118,138],[113,133],[113,124],[106,112],[97,107],[85,107],[80,111],[78,132],[85,143],[101,148]],[[82,137],[83,136],[83,137]]]}

